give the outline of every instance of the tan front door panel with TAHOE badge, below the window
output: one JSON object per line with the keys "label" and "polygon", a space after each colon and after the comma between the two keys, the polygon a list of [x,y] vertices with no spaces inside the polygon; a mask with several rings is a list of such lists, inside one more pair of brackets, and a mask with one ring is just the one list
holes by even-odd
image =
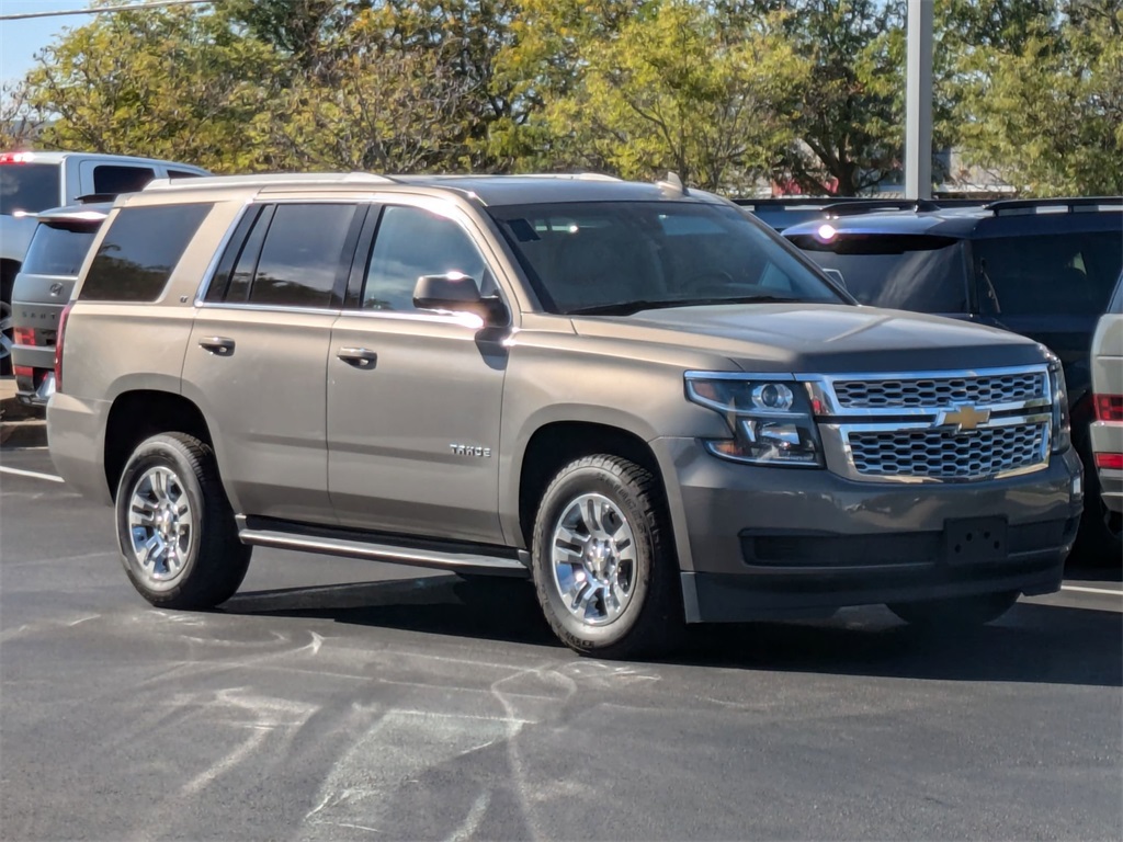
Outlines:
{"label": "tan front door panel with TAHOE badge, below the window", "polygon": [[[339,358],[359,350],[373,360]],[[501,338],[476,317],[340,317],[328,358],[328,472],[340,524],[502,542],[505,373]]]}

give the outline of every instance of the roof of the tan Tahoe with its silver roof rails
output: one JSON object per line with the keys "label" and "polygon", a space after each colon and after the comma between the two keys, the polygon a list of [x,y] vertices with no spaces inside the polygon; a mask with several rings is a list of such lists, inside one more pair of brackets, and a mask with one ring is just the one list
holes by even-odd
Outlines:
{"label": "roof of the tan Tahoe with its silver roof rails", "polygon": [[659,183],[627,182],[597,173],[531,175],[375,175],[372,173],[289,173],[232,175],[202,179],[157,179],[144,192],[189,191],[216,187],[262,187],[284,190],[311,186],[377,187],[394,190],[424,187],[449,190],[474,196],[486,205],[533,204],[538,202],[660,201],[666,199],[720,202],[709,193],[679,191]]}

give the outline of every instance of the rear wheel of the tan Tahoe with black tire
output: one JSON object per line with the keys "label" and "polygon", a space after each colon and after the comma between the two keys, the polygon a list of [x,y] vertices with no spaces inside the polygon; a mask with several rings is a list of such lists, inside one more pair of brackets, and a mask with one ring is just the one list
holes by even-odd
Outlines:
{"label": "rear wheel of the tan Tahoe with black tire", "polygon": [[[164,520],[159,528],[138,525],[137,532],[129,523],[133,512],[140,512],[140,507],[134,507],[135,494],[159,501],[152,478],[156,475],[171,483],[166,486],[174,489],[168,492],[170,495],[179,493],[176,505],[184,497],[188,504],[182,521],[189,522],[189,538],[184,539],[176,532],[175,546],[182,547],[182,551],[176,553],[175,570],[171,570],[171,562],[164,564],[163,575],[157,569],[161,565],[158,560],[153,562],[150,571],[146,570],[134,549],[134,539],[147,537],[153,540],[167,521]],[[157,506],[157,503],[150,505]],[[253,548],[238,540],[234,512],[219,481],[214,452],[199,439],[170,432],[140,442],[121,473],[116,509],[117,540],[125,573],[137,592],[153,605],[206,611],[229,600],[241,585]],[[164,540],[167,537],[164,534],[161,541],[172,546]]]}

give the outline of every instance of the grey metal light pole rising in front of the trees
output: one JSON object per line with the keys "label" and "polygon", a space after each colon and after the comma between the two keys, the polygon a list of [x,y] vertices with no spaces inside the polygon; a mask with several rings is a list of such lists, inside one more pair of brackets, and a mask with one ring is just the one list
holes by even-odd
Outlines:
{"label": "grey metal light pole rising in front of the trees", "polygon": [[909,0],[905,198],[932,198],[932,7]]}

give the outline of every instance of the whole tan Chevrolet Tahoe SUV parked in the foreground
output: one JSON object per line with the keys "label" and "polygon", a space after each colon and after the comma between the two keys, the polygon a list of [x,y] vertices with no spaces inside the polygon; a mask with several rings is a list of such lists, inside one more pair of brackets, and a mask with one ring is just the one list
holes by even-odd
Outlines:
{"label": "whole tan Chevrolet Tahoe SUV parked in the foreground", "polygon": [[1081,510],[1038,344],[857,306],[674,181],[155,182],[94,240],[52,457],[153,604],[255,546],[533,579],[628,657],[686,622],[1057,589]]}

